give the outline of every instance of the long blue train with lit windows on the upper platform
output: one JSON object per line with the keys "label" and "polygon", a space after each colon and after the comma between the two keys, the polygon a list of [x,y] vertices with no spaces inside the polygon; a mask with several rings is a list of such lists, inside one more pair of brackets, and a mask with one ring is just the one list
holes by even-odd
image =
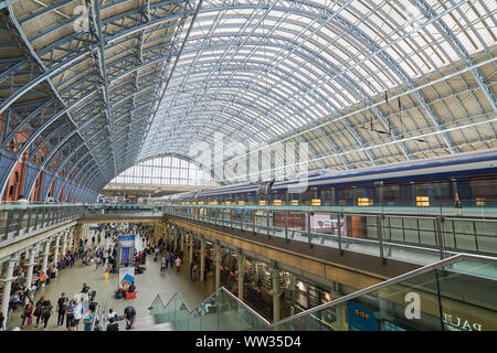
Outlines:
{"label": "long blue train with lit windows on the upper platform", "polygon": [[231,205],[484,206],[497,204],[497,149],[347,171],[318,170],[166,200]]}

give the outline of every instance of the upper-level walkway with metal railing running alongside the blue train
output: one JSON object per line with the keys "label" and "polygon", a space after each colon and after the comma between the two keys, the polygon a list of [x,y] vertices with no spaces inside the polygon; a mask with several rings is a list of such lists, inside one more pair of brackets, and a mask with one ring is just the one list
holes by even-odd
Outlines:
{"label": "upper-level walkway with metal railing running alongside the blue train", "polygon": [[461,253],[497,254],[494,207],[171,204],[163,206],[163,214],[420,266]]}

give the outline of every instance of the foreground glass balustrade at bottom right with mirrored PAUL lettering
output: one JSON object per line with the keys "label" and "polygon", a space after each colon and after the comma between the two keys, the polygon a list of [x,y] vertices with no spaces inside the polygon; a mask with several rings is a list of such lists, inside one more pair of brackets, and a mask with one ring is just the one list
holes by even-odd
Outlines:
{"label": "foreground glass balustrade at bottom right with mirrored PAUL lettering", "polygon": [[497,261],[458,255],[256,329],[495,331]]}

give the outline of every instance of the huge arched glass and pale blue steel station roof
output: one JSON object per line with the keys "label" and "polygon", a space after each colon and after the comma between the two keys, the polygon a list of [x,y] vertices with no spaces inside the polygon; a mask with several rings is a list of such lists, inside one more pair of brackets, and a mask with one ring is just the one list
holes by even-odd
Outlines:
{"label": "huge arched glass and pale blue steel station roof", "polygon": [[40,183],[42,200],[52,191],[91,200],[140,161],[192,159],[192,147],[221,139],[308,142],[310,169],[497,147],[495,1],[0,9],[2,192],[22,161],[24,194]]}

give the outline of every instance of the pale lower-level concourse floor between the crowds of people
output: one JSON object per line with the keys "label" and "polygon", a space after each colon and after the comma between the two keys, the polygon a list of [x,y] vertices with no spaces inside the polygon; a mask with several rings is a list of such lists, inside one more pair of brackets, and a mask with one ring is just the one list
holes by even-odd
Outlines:
{"label": "pale lower-level concourse floor between the crowds of people", "polygon": [[[109,240],[109,239],[108,239]],[[107,245],[102,243],[102,245]],[[136,239],[136,248],[140,250],[142,248],[141,240]],[[188,252],[187,256],[188,256]],[[170,298],[176,292],[179,292],[187,304],[193,309],[207,297],[214,292],[214,280],[212,274],[208,274],[204,282],[191,281],[189,279],[190,269],[188,257],[184,257],[184,265],[181,266],[179,274],[176,272],[176,268],[171,269],[169,267],[167,274],[160,275],[160,261],[154,261],[152,256],[147,256],[147,261],[145,267],[147,270],[141,275],[135,275],[135,285],[137,287],[137,298],[128,300],[118,300],[114,297],[114,292],[118,286],[118,274],[109,274],[108,280],[104,279],[106,266],[99,266],[96,269],[96,265],[84,266],[81,259],[77,259],[73,268],[65,268],[59,271],[57,278],[53,278],[51,284],[45,288],[41,289],[35,296],[34,303],[41,296],[49,299],[53,307],[54,312],[49,320],[46,331],[64,331],[64,325],[57,327],[57,313],[55,312],[56,301],[61,297],[62,292],[65,292],[68,298],[73,298],[78,293],[83,287],[83,282],[89,286],[91,290],[96,290],[95,301],[98,304],[107,306],[107,309],[113,309],[117,311],[118,314],[123,314],[124,309],[127,306],[135,307],[137,311],[137,321],[135,328],[140,330],[140,318],[144,318],[142,324],[150,325],[149,310],[147,309],[157,295],[160,295],[163,303],[166,304]],[[21,319],[21,308],[12,314],[8,320],[7,327],[20,327]],[[108,312],[108,310],[107,310]],[[43,323],[40,321],[39,328],[35,328],[36,318],[33,315],[33,323],[31,325],[25,325],[22,330],[24,331],[41,331],[43,330]],[[83,323],[80,322],[78,330],[83,330]],[[125,330],[124,321],[119,321],[119,330]]]}

